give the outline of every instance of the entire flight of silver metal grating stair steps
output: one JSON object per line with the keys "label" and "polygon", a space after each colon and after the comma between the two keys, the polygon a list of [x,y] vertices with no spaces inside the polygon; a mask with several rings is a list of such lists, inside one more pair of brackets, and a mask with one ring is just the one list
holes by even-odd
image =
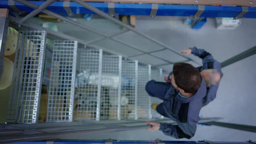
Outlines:
{"label": "entire flight of silver metal grating stair steps", "polygon": [[[21,33],[8,122],[36,123],[46,33]],[[145,85],[151,79],[163,79],[161,74],[161,69],[151,69],[151,65],[103,55],[102,49],[78,48],[76,41],[55,40],[46,121],[160,118],[151,111],[151,101],[161,101],[151,98]]]}

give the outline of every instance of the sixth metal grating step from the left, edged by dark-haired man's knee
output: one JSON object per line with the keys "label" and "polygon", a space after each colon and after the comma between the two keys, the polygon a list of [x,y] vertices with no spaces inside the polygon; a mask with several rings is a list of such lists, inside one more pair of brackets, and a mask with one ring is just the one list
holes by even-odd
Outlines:
{"label": "sixth metal grating step from the left, edged by dark-haired man's knee", "polygon": [[150,96],[145,90],[145,85],[150,79],[149,65],[138,65],[138,118],[150,118]]}

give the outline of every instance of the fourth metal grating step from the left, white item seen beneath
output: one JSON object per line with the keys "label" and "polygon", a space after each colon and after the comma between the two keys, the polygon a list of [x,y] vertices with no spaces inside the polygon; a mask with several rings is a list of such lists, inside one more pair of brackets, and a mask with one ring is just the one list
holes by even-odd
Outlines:
{"label": "fourth metal grating step from the left, white item seen beneath", "polygon": [[121,117],[121,56],[102,58],[102,97],[100,119]]}

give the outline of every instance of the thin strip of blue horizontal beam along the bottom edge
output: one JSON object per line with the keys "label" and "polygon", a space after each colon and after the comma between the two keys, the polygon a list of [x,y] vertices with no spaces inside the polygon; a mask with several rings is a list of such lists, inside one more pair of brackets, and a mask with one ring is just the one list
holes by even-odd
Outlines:
{"label": "thin strip of blue horizontal beam along the bottom edge", "polygon": [[[212,142],[212,141],[211,141]],[[250,144],[249,142],[213,141],[214,144]],[[206,144],[199,141],[164,141],[165,144]],[[46,144],[46,141],[27,141],[9,144]],[[105,144],[105,141],[95,140],[56,140],[54,144]],[[155,141],[113,141],[113,144],[158,144]]]}

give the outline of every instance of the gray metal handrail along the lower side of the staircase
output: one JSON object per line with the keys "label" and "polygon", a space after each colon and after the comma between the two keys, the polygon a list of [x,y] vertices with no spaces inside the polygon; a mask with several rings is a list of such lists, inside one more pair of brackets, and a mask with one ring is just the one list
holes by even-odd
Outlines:
{"label": "gray metal handrail along the lower side of the staircase", "polygon": [[[210,122],[220,118],[202,118],[199,122]],[[124,121],[94,121],[94,122],[52,122],[39,124],[6,124],[0,126],[0,134],[9,129],[9,134],[0,135],[0,143],[21,142],[21,141],[39,141],[57,139],[61,137],[82,136],[101,134],[115,131],[130,131],[137,129],[150,128],[145,125],[148,120],[124,120]],[[169,119],[156,119],[152,122],[168,122],[176,124]],[[23,133],[23,134],[20,134]]]}

